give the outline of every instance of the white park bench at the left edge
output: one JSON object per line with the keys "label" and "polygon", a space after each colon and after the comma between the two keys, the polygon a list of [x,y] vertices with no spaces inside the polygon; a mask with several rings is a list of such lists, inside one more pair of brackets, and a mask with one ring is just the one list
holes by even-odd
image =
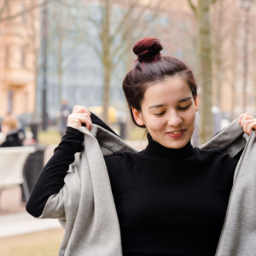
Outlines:
{"label": "white park bench at the left edge", "polygon": [[29,154],[34,153],[35,147],[0,148],[0,194],[3,189],[22,185],[26,201],[29,190],[23,176],[23,168]]}

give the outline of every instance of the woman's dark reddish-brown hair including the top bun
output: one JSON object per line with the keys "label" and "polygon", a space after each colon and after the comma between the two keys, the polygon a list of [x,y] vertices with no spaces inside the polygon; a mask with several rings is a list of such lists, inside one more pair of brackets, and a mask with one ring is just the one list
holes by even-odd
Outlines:
{"label": "woman's dark reddish-brown hair including the top bun", "polygon": [[[133,47],[137,60],[135,67],[125,76],[123,90],[135,125],[137,122],[133,117],[131,108],[141,111],[144,93],[151,85],[177,75],[189,84],[194,100],[197,96],[198,87],[191,68],[176,57],[161,55],[162,49],[163,46],[157,38],[143,38]],[[145,127],[145,125],[137,126]]]}

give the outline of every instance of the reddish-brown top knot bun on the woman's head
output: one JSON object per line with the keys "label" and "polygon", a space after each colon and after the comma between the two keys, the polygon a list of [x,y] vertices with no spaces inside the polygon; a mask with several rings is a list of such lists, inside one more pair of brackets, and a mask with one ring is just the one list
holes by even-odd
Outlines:
{"label": "reddish-brown top knot bun on the woman's head", "polygon": [[137,55],[138,61],[155,60],[163,49],[158,38],[143,38],[133,46],[133,52]]}

